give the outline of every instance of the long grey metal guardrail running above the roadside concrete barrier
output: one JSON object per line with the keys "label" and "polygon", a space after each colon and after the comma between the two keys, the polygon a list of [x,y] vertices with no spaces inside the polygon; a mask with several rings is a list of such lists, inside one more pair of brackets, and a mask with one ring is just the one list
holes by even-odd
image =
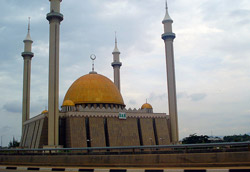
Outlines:
{"label": "long grey metal guardrail running above the roadside concrete barrier", "polygon": [[37,154],[148,154],[148,153],[205,153],[222,151],[250,151],[250,141],[209,144],[149,145],[120,147],[0,149],[0,155]]}

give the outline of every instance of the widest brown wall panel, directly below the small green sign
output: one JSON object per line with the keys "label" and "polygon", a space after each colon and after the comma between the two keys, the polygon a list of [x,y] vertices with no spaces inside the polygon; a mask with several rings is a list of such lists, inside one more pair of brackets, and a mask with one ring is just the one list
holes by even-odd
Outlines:
{"label": "widest brown wall panel, directly below the small green sign", "polygon": [[140,145],[136,118],[107,118],[107,126],[110,146]]}

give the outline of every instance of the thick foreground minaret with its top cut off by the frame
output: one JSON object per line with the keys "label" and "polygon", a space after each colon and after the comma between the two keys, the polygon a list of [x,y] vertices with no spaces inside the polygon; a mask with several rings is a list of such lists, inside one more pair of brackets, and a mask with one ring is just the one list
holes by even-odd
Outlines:
{"label": "thick foreground minaret with its top cut off by the frame", "polygon": [[50,24],[49,37],[49,96],[48,96],[48,146],[57,147],[58,139],[58,99],[59,99],[59,36],[60,23],[63,15],[60,13],[62,0],[49,0],[50,13],[47,20]]}

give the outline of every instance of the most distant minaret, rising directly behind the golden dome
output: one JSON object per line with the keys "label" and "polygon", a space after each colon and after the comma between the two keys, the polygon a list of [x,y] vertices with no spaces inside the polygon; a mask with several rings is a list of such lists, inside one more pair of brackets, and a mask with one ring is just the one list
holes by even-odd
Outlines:
{"label": "most distant minaret, rising directly behind the golden dome", "polygon": [[121,92],[121,85],[120,85],[120,67],[122,66],[122,63],[120,62],[120,51],[117,48],[117,38],[115,34],[115,48],[114,51],[112,52],[113,54],[113,63],[111,65],[113,66],[114,69],[114,83],[118,90]]}

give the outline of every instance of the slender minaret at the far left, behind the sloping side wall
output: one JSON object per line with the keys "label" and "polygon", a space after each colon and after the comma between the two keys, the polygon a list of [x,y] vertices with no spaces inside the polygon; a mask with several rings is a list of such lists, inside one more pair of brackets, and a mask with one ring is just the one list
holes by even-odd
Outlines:
{"label": "slender minaret at the far left, behind the sloping side wall", "polygon": [[23,123],[30,118],[30,71],[31,59],[34,56],[32,53],[32,39],[30,37],[30,18],[28,24],[28,33],[24,42],[24,52],[22,53],[24,66],[23,66],[23,109],[22,109],[22,132]]}

